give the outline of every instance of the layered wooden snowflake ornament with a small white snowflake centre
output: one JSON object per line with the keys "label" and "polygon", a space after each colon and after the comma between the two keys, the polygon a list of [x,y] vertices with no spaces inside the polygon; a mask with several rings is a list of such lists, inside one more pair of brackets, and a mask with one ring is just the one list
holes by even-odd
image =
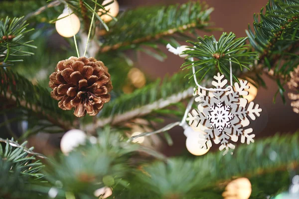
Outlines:
{"label": "layered wooden snowflake ornament with a small white snowflake centre", "polygon": [[[224,75],[217,74],[214,76],[215,81],[212,85],[217,89],[225,89],[227,80]],[[215,144],[220,143],[219,150],[223,155],[227,154],[229,149],[235,149],[232,142],[237,142],[239,138],[242,143],[253,143],[252,128],[246,128],[249,124],[249,118],[255,120],[260,116],[262,111],[258,104],[254,102],[248,103],[247,99],[240,96],[248,95],[249,89],[247,81],[240,80],[232,86],[227,86],[228,91],[213,91],[207,92],[203,89],[198,89],[195,101],[198,102],[197,109],[193,109],[188,113],[189,125],[199,127],[202,131],[203,139],[199,144],[201,148],[207,149],[212,146],[212,141]]]}

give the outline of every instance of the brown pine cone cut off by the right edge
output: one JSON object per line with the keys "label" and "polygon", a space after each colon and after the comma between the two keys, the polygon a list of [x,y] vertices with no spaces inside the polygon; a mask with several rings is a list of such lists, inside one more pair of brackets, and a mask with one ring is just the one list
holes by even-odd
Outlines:
{"label": "brown pine cone cut off by the right edge", "polygon": [[288,82],[288,86],[296,93],[288,93],[289,98],[292,100],[291,106],[295,113],[299,113],[299,66],[291,72],[291,80]]}

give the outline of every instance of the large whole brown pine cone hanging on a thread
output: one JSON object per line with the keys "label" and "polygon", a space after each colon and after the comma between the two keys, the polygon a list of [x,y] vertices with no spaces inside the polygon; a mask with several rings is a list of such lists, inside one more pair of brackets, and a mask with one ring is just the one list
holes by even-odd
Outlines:
{"label": "large whole brown pine cone hanging on a thread", "polygon": [[70,57],[59,61],[50,75],[51,97],[60,100],[59,108],[71,110],[74,115],[95,116],[110,101],[112,84],[108,68],[93,57]]}

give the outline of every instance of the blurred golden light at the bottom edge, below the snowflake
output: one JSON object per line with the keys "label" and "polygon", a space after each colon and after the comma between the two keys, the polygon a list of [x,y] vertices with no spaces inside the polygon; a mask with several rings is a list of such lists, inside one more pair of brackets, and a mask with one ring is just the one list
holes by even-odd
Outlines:
{"label": "blurred golden light at the bottom edge, below the snowflake", "polygon": [[230,182],[223,192],[224,199],[249,199],[251,183],[247,178],[239,178]]}

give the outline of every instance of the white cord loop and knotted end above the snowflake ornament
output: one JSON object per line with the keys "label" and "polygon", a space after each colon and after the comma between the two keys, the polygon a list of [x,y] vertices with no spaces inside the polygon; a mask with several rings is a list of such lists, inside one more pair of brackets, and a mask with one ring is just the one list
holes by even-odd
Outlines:
{"label": "white cord loop and knotted end above the snowflake ornament", "polygon": [[[182,56],[181,55],[183,53],[183,51],[187,50],[186,47],[187,46],[179,46],[177,48],[174,48],[169,43],[166,45],[166,48],[168,49],[169,52],[172,52],[175,55],[179,55],[180,57],[187,57],[187,55],[186,56]],[[230,54],[228,54],[228,55],[230,56]],[[194,58],[193,57],[190,57],[189,60],[192,61],[192,62],[194,62]],[[229,58],[229,69],[230,69],[230,85],[233,86],[233,73],[232,73],[232,62],[231,62],[231,58]],[[200,89],[203,89],[203,90],[206,90],[206,91],[229,91],[231,89],[230,87],[227,87],[225,89],[206,88],[206,87],[203,87],[203,86],[199,85],[199,83],[197,82],[196,74],[195,74],[194,63],[192,63],[192,73],[193,73],[194,82],[198,86],[198,88],[200,88]]]}

